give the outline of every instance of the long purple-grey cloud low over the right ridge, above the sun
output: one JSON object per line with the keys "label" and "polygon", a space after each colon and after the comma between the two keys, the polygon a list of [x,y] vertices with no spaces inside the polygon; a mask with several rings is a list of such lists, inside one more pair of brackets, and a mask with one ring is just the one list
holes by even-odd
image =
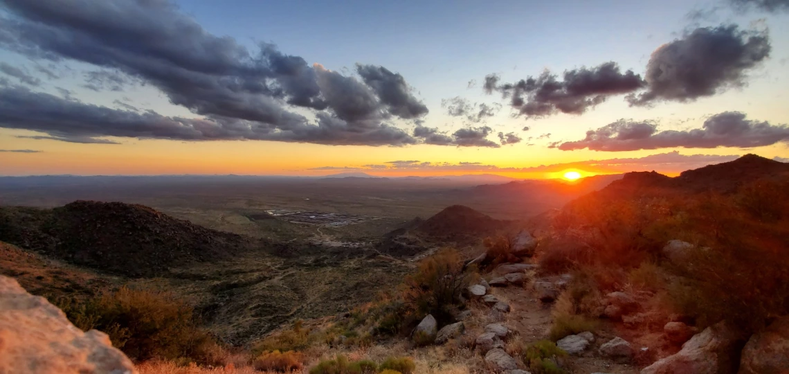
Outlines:
{"label": "long purple-grey cloud low over the right ridge, above the sun", "polygon": [[789,142],[789,126],[747,120],[739,112],[723,112],[708,118],[701,129],[658,131],[654,122],[619,120],[589,130],[583,140],[556,145],[563,151],[635,151],[658,148],[752,148]]}

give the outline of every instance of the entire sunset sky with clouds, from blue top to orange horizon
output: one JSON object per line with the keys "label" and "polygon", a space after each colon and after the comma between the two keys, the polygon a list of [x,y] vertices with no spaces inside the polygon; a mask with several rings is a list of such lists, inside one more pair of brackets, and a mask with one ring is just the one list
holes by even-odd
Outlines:
{"label": "entire sunset sky with clouds, from blue top to orange horizon", "polygon": [[789,0],[0,0],[0,175],[789,161]]}

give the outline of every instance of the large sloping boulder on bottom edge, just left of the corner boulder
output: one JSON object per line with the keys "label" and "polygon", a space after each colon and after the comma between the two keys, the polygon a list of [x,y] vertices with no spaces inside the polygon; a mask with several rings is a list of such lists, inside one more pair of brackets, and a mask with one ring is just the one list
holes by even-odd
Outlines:
{"label": "large sloping boulder on bottom edge, just left of the corner boulder", "polygon": [[739,361],[741,336],[720,322],[694,335],[682,350],[649,365],[641,374],[719,374],[734,373]]}

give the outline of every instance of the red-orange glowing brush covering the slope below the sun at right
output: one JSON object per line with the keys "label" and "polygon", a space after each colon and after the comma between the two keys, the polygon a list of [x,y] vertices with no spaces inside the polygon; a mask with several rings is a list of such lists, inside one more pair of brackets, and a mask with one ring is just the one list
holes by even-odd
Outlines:
{"label": "red-orange glowing brush covering the slope below the sun at right", "polygon": [[[575,269],[557,312],[596,316],[600,294],[634,287],[663,295],[673,309],[666,312],[700,327],[728,320],[754,331],[789,313],[787,178],[724,192],[626,192],[608,189],[569,204],[555,219],[561,234],[540,245],[542,271]],[[682,259],[663,252],[673,239],[693,245]]]}

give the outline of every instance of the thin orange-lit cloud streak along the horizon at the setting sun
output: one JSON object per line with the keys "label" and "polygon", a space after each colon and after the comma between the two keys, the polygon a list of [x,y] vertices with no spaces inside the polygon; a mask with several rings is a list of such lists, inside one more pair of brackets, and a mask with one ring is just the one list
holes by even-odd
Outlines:
{"label": "thin orange-lit cloud streak along the horizon at the setting sun", "polygon": [[[401,163],[391,164],[387,168],[379,167],[335,167],[322,166],[310,170],[371,170],[379,172],[387,170],[424,170],[436,171],[464,171],[464,172],[499,172],[499,173],[557,173],[567,169],[587,170],[594,173],[626,173],[629,171],[657,170],[663,173],[675,174],[683,170],[696,169],[712,163],[725,163],[737,159],[739,155],[681,155],[679,151],[671,151],[639,158],[624,159],[599,159],[585,160],[574,163],[555,163],[552,165],[528,167],[499,167],[483,163]],[[789,161],[789,159],[786,159]]]}

